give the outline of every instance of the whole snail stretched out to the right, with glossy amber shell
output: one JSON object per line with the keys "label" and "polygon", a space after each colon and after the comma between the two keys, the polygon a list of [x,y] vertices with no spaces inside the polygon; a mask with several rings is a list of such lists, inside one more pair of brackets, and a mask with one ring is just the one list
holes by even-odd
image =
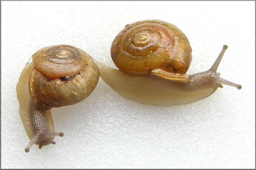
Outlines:
{"label": "whole snail stretched out to the right, with glossy amber shell", "polygon": [[111,57],[119,70],[94,62],[102,80],[123,97],[149,105],[175,106],[204,99],[222,84],[242,88],[216,72],[227,48],[223,46],[209,70],[187,75],[192,48],[186,35],[170,23],[142,20],[126,25],[111,45]]}

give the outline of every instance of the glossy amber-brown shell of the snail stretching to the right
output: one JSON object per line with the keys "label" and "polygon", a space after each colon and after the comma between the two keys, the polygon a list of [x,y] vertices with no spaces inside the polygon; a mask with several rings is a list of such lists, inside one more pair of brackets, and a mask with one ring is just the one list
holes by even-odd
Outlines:
{"label": "glossy amber-brown shell of the snail stretching to the right", "polygon": [[186,35],[160,20],[126,25],[114,39],[110,52],[116,66],[132,76],[148,76],[157,68],[185,74],[192,60]]}

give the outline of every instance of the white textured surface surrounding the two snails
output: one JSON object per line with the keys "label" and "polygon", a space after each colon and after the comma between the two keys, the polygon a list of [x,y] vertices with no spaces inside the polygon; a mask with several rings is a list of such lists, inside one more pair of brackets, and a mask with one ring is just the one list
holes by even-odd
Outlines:
{"label": "white textured surface surrounding the two snails", "polygon": [[[120,97],[101,79],[84,101],[52,109],[56,145],[29,153],[16,84],[38,49],[69,44],[115,67],[110,46],[126,24],[160,19],[193,48],[188,73],[210,68],[224,85],[185,106],[152,107]],[[255,2],[1,1],[2,168],[255,168]]]}

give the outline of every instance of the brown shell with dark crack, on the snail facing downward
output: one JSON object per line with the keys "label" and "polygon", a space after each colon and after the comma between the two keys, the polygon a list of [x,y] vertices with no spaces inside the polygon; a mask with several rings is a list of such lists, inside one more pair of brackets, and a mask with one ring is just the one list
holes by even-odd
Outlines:
{"label": "brown shell with dark crack, on the snail facing downward", "polygon": [[29,93],[44,109],[76,104],[87,98],[99,80],[99,70],[83,50],[57,45],[38,50],[29,77]]}

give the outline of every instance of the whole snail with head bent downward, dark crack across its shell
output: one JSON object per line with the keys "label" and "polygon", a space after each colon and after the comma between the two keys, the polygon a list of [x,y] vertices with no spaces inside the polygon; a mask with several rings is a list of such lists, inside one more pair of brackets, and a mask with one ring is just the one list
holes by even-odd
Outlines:
{"label": "whole snail with head bent downward, dark crack across its shell", "polygon": [[55,132],[50,109],[76,104],[87,98],[99,80],[99,70],[92,57],[70,45],[45,47],[32,55],[22,70],[16,86],[20,117],[33,144],[55,144]]}

